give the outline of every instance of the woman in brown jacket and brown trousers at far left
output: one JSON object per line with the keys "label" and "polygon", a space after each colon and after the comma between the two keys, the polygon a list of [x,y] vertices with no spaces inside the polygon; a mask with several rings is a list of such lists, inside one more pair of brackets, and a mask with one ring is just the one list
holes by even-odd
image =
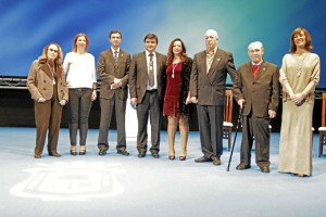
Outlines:
{"label": "woman in brown jacket and brown trousers at far left", "polygon": [[[35,158],[40,158],[48,133],[48,153],[60,157],[57,152],[62,107],[68,100],[65,76],[61,65],[62,51],[58,43],[43,48],[34,61],[27,77],[27,88],[34,99],[36,146]],[[48,132],[49,129],[49,132]]]}

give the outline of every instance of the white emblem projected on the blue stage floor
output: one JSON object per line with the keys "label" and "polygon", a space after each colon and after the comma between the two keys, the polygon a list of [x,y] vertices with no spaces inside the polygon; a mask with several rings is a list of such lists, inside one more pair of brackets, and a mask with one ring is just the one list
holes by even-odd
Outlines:
{"label": "white emblem projected on the blue stage floor", "polygon": [[122,194],[123,186],[116,175],[124,173],[118,164],[103,162],[39,163],[25,169],[32,176],[14,186],[11,193],[42,201],[86,201]]}

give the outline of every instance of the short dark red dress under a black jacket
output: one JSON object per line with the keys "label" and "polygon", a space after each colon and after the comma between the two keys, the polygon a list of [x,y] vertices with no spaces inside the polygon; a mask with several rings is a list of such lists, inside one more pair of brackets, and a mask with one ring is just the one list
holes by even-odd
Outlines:
{"label": "short dark red dress under a black jacket", "polygon": [[164,116],[178,116],[181,69],[183,63],[171,64],[166,68],[166,89],[163,105]]}

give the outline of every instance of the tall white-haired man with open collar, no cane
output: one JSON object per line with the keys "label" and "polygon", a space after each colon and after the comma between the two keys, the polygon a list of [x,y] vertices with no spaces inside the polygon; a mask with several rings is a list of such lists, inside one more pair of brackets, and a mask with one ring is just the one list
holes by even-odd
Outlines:
{"label": "tall white-haired man with open collar, no cane", "polygon": [[224,98],[227,74],[234,82],[234,94],[239,94],[239,77],[233,54],[217,48],[218,35],[209,29],[206,50],[195,54],[190,77],[190,100],[197,103],[202,157],[196,163],[213,162],[221,165],[223,154]]}

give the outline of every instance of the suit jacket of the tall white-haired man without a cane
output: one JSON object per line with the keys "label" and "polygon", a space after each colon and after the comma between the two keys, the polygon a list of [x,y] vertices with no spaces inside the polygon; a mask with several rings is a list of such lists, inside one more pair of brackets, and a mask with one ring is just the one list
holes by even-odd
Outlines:
{"label": "suit jacket of the tall white-haired man without a cane", "polygon": [[234,82],[234,94],[240,94],[239,77],[231,53],[217,49],[209,73],[206,73],[206,51],[195,54],[190,95],[197,97],[200,105],[224,105],[227,73]]}

